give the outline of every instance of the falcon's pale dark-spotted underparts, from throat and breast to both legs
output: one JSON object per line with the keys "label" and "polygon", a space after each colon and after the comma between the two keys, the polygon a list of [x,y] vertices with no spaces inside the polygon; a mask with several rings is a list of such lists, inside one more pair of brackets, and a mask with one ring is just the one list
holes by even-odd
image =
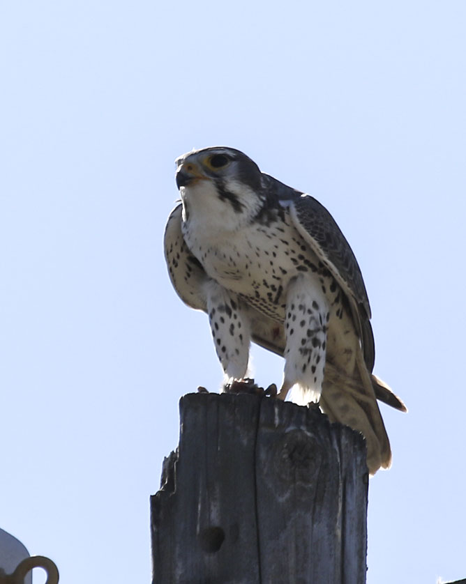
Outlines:
{"label": "falcon's pale dark-spotted underparts, from throat and breast to both legs", "polygon": [[[230,201],[221,200],[210,181],[198,180],[181,189],[183,205],[188,211],[188,215],[183,213],[183,236],[211,278],[206,298],[213,341],[223,370],[229,378],[246,376],[250,327],[246,311],[241,311],[240,297],[243,295],[257,309],[268,311],[278,323],[285,317],[287,344],[280,397],[284,399],[288,390],[296,385],[293,401],[303,405],[317,401],[324,378],[326,325],[331,302],[322,287],[326,286],[328,293],[330,284],[324,282],[312,266],[306,266],[299,259],[305,250],[290,222],[279,223],[280,231],[272,225],[268,243],[264,239],[264,228],[250,221],[260,208],[257,196],[246,185],[234,180],[228,181],[226,188],[238,197],[242,205],[240,211],[235,210]],[[317,266],[318,259],[310,251],[306,252],[305,259]],[[267,302],[269,293],[271,298]],[[280,300],[274,301],[275,297]],[[218,311],[218,307],[224,305],[231,307],[231,300],[238,307],[236,318],[225,309]],[[212,309],[216,309],[214,314]],[[241,322],[242,338],[237,334],[236,321]],[[235,327],[234,334],[230,333],[231,325]]]}

